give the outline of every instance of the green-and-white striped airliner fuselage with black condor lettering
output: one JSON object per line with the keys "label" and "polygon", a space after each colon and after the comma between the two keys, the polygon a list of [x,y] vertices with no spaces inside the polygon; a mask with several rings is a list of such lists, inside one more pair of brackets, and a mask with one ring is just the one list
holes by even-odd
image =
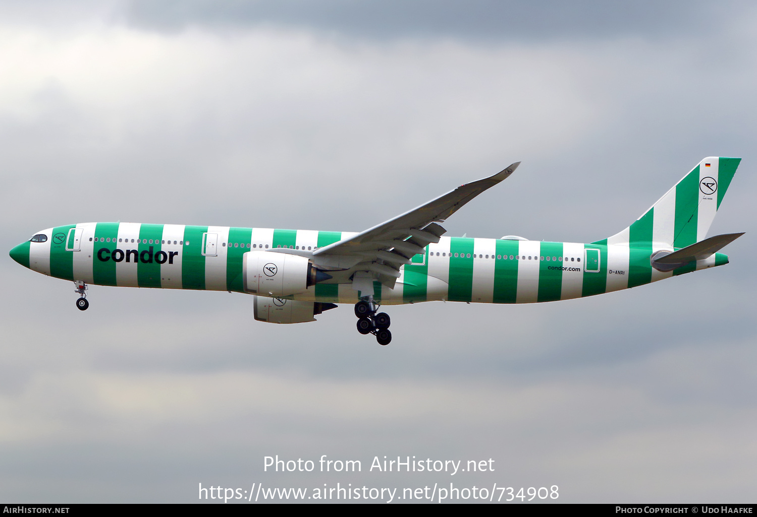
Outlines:
{"label": "green-and-white striped airliner fuselage with black condor lettering", "polygon": [[[678,274],[726,264],[715,253],[673,271],[657,271],[645,246],[625,243],[550,243],[537,240],[441,237],[400,268],[394,289],[374,282],[382,305],[450,302],[531,303],[581,298],[639,286]],[[642,223],[643,218],[637,223]],[[634,223],[634,224],[637,224]],[[633,230],[633,225],[632,225]],[[22,265],[51,277],[103,286],[204,289],[250,293],[245,286],[245,252],[276,248],[316,250],[354,235],[350,232],[229,228],[182,224],[82,223],[39,232],[45,242],[17,249]],[[215,246],[212,246],[215,241]],[[665,246],[672,251],[676,249]],[[25,263],[26,262],[26,263]],[[306,302],[355,303],[350,283],[326,280],[304,293],[282,298]],[[261,294],[261,293],[256,293]]]}

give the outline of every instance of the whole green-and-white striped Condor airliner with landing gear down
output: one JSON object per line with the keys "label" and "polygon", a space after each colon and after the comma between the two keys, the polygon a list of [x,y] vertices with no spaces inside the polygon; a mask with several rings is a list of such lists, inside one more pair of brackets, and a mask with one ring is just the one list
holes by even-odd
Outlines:
{"label": "whole green-and-white striped Condor airliner with landing gear down", "polygon": [[11,249],[32,271],[88,284],[204,289],[254,297],[254,318],[315,321],[354,304],[357,330],[391,342],[381,305],[554,302],[629,289],[728,263],[743,235],[705,238],[740,158],[702,159],[640,218],[592,243],[443,237],[443,223],[520,162],[360,233],[90,222],[39,231]]}

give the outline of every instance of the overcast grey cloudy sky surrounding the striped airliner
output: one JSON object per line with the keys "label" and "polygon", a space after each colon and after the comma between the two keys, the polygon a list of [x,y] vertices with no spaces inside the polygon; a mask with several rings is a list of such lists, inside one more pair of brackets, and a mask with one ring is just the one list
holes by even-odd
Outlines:
{"label": "overcast grey cloudy sky surrounding the striped airliner", "polygon": [[[448,235],[590,242],[705,156],[731,264],[590,299],[253,319],[238,294],[0,278],[0,500],[559,486],[754,502],[751,2],[0,2],[0,240],[83,221],[361,231],[522,160]],[[265,473],[263,457],[361,460]],[[495,460],[451,477],[373,457]]]}

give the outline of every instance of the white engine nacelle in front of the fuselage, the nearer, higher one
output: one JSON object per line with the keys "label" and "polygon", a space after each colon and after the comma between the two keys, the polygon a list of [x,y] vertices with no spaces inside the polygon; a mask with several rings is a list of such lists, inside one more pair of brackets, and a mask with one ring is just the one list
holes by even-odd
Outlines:
{"label": "white engine nacelle in front of the fuselage, the nearer, higher one", "polygon": [[276,252],[246,252],[242,272],[248,293],[273,297],[301,294],[331,278],[314,268],[307,257]]}

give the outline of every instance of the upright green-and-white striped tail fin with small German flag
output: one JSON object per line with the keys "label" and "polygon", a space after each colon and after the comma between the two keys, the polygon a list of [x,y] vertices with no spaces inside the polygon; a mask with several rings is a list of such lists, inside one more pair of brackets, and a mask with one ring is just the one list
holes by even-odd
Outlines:
{"label": "upright green-and-white striped tail fin with small German flag", "polygon": [[597,243],[684,248],[706,237],[740,158],[702,159],[631,226]]}

